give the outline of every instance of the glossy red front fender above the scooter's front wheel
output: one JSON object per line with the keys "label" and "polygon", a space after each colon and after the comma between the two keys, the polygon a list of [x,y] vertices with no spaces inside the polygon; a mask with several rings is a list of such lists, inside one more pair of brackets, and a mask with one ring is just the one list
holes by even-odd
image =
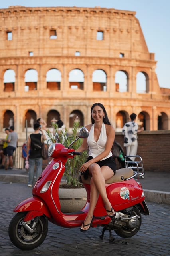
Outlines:
{"label": "glossy red front fender above the scooter's front wheel", "polygon": [[[14,212],[35,212],[34,217],[45,214],[48,218],[51,218],[51,213],[48,210],[47,205],[43,200],[37,196],[27,198],[20,202],[14,210]],[[37,212],[37,213],[36,213]]]}

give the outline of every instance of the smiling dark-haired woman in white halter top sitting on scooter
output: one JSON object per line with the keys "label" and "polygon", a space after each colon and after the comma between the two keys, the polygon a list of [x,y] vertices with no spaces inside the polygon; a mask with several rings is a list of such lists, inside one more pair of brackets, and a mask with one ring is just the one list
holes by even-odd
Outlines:
{"label": "smiling dark-haired woman in white halter top sitting on scooter", "polygon": [[116,164],[111,153],[115,130],[109,122],[105,107],[101,103],[95,103],[91,107],[91,122],[86,126],[89,131],[88,138],[84,139],[82,145],[76,150],[83,152],[89,148],[89,158],[81,166],[80,172],[83,174],[88,169],[91,175],[89,212],[81,226],[81,232],[85,232],[91,227],[99,194],[103,199],[108,216],[111,218],[115,216],[115,211],[107,198],[105,187],[105,180],[111,178],[116,171]]}

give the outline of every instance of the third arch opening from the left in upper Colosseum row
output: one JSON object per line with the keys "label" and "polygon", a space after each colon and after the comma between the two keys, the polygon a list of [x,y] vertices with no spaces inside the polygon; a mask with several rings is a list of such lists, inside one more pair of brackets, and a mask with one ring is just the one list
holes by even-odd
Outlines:
{"label": "third arch opening from the left in upper Colosseum row", "polygon": [[60,90],[61,72],[57,68],[51,68],[46,74],[47,89]]}

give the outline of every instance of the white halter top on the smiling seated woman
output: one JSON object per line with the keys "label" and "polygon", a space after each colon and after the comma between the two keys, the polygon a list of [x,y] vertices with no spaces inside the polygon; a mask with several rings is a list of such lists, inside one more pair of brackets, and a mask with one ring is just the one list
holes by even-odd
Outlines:
{"label": "white halter top on the smiling seated woman", "polygon": [[[95,127],[95,124],[93,124],[91,126],[91,129],[89,131],[89,136],[87,138],[87,143],[89,146],[89,156],[93,156],[93,158],[98,156],[101,152],[103,152],[105,150],[105,145],[106,145],[106,141],[107,141],[105,124],[102,123],[100,136],[99,136],[99,139],[97,140],[97,142],[94,139],[94,127]],[[111,151],[108,156],[105,156],[101,160],[107,159],[110,156],[112,156]]]}

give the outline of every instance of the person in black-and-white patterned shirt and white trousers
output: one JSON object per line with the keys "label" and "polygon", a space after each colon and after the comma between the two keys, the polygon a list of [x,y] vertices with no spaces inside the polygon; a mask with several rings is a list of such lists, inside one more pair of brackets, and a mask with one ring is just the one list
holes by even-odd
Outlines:
{"label": "person in black-and-white patterned shirt and white trousers", "polygon": [[[130,121],[125,123],[123,126],[122,134],[124,135],[124,144],[126,147],[127,156],[136,156],[138,149],[138,133],[144,130],[143,127],[138,129],[138,124],[136,123],[136,114],[132,113],[130,115]],[[130,157],[132,161],[135,157]]]}

